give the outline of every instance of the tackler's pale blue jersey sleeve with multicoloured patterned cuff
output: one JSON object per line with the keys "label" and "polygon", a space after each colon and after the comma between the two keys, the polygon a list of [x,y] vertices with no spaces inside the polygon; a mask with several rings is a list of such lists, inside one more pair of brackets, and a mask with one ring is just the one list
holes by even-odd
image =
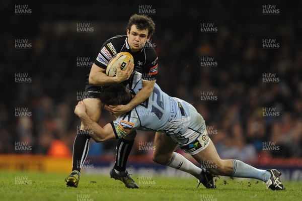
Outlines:
{"label": "tackler's pale blue jersey sleeve with multicoloured patterned cuff", "polygon": [[118,117],[116,120],[111,122],[116,139],[128,135],[139,127],[139,119],[137,115],[132,115],[134,111],[128,112],[125,116]]}

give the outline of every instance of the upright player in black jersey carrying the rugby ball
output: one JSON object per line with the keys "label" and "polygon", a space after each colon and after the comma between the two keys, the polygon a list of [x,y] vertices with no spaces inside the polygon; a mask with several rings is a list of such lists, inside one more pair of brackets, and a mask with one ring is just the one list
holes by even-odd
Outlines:
{"label": "upright player in black jersey carrying the rugby ball", "polygon": [[[99,99],[103,87],[111,84],[120,83],[129,78],[134,71],[142,73],[142,89],[127,105],[119,105],[108,108],[112,114],[121,115],[132,110],[135,106],[142,103],[152,93],[157,73],[158,57],[157,53],[148,42],[155,32],[155,23],[145,15],[132,15],[126,27],[127,35],[115,36],[108,39],[101,47],[101,50],[87,75],[85,91],[89,97],[83,100],[87,106],[89,117],[98,122],[101,117],[103,104]],[[129,52],[132,54],[134,63],[130,64],[125,71],[118,69],[115,77],[106,75],[106,67],[110,59],[119,52]],[[81,168],[85,163],[89,151],[90,136],[84,131],[83,123],[81,130],[77,134],[73,144],[72,172],[65,178],[67,186],[78,187]],[[121,138],[116,150],[116,162],[110,171],[111,177],[124,182],[127,187],[138,188],[125,169],[128,155],[132,149],[136,132],[128,137]],[[122,154],[123,157],[120,157]],[[124,160],[121,161],[121,158]]]}

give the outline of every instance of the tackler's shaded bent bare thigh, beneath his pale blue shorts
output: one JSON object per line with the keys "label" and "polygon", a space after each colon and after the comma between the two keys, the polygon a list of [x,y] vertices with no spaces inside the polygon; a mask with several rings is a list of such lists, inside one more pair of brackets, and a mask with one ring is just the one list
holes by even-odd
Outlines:
{"label": "tackler's shaded bent bare thigh, beneath his pale blue shorts", "polygon": [[153,152],[154,156],[157,155],[167,155],[171,156],[178,146],[170,136],[156,132],[154,140],[155,150]]}

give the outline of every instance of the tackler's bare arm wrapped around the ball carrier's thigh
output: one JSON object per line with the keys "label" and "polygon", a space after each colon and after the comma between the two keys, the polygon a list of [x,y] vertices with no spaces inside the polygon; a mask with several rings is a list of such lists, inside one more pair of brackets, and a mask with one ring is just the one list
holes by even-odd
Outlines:
{"label": "tackler's bare arm wrapped around the ball carrier's thigh", "polygon": [[89,131],[87,133],[96,142],[104,142],[116,139],[111,124],[106,124],[104,128],[102,128],[98,123],[90,119],[86,113],[86,105],[83,101],[80,101],[78,105],[75,106],[74,113],[80,117],[82,123],[84,124],[85,131]]}

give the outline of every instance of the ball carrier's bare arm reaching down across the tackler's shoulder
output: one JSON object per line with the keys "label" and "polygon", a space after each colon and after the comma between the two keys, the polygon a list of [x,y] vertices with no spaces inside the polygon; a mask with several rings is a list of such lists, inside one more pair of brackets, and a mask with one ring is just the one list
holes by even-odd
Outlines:
{"label": "ball carrier's bare arm reaching down across the tackler's shoulder", "polygon": [[136,93],[136,95],[131,99],[131,101],[127,105],[105,106],[105,108],[109,110],[111,114],[114,114],[116,116],[120,116],[126,112],[129,112],[137,105],[144,102],[144,100],[151,95],[155,82],[156,80],[142,80],[142,89]]}

